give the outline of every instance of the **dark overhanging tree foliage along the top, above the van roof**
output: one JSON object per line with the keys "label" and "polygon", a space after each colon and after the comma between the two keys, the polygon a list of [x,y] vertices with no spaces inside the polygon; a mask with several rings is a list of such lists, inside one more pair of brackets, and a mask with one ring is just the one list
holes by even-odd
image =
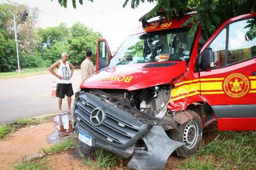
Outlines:
{"label": "dark overhanging tree foliage along the top, above the van roof", "polygon": [[[59,3],[67,7],[68,0],[61,0]],[[90,1],[90,0],[89,0]],[[73,7],[76,8],[76,1],[72,0]],[[124,0],[125,7],[130,2],[131,8],[136,8],[145,0]],[[171,19],[173,16],[181,18],[183,14],[189,11],[197,13],[191,17],[184,25],[192,23],[189,30],[190,35],[197,31],[198,23],[201,24],[203,36],[208,39],[213,32],[225,20],[256,11],[255,0],[147,0],[148,3],[156,2],[156,6],[145,16],[145,20],[153,18],[160,9],[164,9],[166,18]],[[83,0],[79,0],[83,4]]]}

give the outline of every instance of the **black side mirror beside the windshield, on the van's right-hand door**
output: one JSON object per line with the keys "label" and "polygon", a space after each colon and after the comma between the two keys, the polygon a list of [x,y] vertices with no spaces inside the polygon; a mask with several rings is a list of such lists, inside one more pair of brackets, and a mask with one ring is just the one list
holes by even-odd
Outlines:
{"label": "black side mirror beside the windshield, on the van's right-hand door", "polygon": [[208,70],[214,67],[214,58],[212,53],[212,48],[205,48],[202,54],[201,68],[203,70]]}

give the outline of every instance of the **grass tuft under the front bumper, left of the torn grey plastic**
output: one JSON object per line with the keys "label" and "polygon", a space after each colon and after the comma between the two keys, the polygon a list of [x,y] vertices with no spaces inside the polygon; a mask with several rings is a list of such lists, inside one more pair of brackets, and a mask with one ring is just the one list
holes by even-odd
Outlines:
{"label": "grass tuft under the front bumper, left of the torn grey plastic", "polygon": [[116,166],[118,159],[121,160],[121,158],[104,149],[95,150],[93,155],[95,159],[85,157],[83,154],[80,154],[80,157],[85,166],[94,167],[94,169],[111,169]]}

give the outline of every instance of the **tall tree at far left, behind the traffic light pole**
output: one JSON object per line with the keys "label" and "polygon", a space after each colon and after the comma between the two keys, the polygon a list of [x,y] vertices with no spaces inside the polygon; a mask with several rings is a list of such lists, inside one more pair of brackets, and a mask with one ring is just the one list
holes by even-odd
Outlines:
{"label": "tall tree at far left, behind the traffic light pole", "polygon": [[9,4],[0,4],[0,71],[14,71],[17,69],[17,52],[15,47],[13,14],[15,14],[18,23],[18,42],[20,54],[20,66],[35,67],[39,66],[41,56],[32,54],[37,52],[38,36],[36,34],[35,24],[37,23],[36,10],[28,10],[29,17],[25,22],[20,21],[20,14],[28,8],[24,5],[13,6]]}

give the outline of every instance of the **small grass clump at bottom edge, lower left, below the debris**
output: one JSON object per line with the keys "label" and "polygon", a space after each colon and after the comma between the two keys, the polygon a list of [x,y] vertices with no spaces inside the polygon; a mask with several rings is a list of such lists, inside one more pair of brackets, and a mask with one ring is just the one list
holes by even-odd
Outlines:
{"label": "small grass clump at bottom edge, lower left, below the debris", "polygon": [[38,162],[26,162],[26,163],[18,163],[15,166],[15,170],[43,170],[48,169],[45,164],[45,159],[42,159]]}

